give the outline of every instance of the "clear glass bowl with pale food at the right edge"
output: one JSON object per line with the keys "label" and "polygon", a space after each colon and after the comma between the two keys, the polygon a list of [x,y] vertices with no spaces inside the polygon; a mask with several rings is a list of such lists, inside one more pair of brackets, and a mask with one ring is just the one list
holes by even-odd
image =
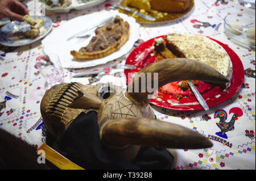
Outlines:
{"label": "clear glass bowl with pale food at the right edge", "polygon": [[234,43],[255,49],[255,14],[233,13],[225,16],[224,32]]}

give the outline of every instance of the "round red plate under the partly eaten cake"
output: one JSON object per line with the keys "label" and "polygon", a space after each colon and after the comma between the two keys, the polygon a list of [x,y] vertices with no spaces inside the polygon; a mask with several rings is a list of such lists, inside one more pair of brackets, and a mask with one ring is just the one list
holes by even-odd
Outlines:
{"label": "round red plate under the partly eaten cake", "polygon": [[[164,36],[159,36],[159,37],[164,38]],[[155,37],[155,38],[158,38],[158,37]],[[202,87],[202,89],[199,90],[201,92],[201,95],[206,100],[208,106],[213,107],[220,103],[225,102],[226,100],[230,99],[234,94],[236,94],[236,92],[240,89],[243,83],[244,73],[243,73],[243,65],[240,58],[232,49],[228,47],[228,45],[223,44],[220,41],[214,40],[210,37],[208,38],[213,41],[216,41],[226,50],[233,64],[232,80],[230,82],[230,87],[228,88],[227,91],[224,91],[217,86],[210,86],[205,82],[199,81],[199,85],[201,85]],[[145,66],[150,65],[155,61],[155,57],[154,56],[151,57],[150,53],[148,53],[150,52],[150,47],[154,43],[154,39],[150,39],[142,43],[137,48],[135,48],[127,57],[126,64],[136,66],[136,69],[134,70],[129,70],[129,69],[125,70],[127,84],[131,81],[131,78],[129,80],[127,79],[128,73],[137,74]],[[142,56],[142,54],[144,54],[144,56]],[[172,87],[175,87],[173,84],[174,83],[169,84],[170,86],[169,88],[172,91],[175,91],[174,89],[172,89]],[[199,87],[197,87],[197,89],[199,89]],[[210,87],[210,89],[206,90],[207,89],[206,87]],[[185,96],[183,96],[181,99],[178,100],[177,97],[174,95],[160,92],[160,89],[155,92],[156,98],[150,100],[150,103],[154,104],[155,106],[167,108],[170,110],[179,110],[179,111],[191,111],[191,110],[203,109],[203,107],[198,103],[196,97],[193,94],[189,95],[189,92],[183,92],[184,93],[183,95]]]}

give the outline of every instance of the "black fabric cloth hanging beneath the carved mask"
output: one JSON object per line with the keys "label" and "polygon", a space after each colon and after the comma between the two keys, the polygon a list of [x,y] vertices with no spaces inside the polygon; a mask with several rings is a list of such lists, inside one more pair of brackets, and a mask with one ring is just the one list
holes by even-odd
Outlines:
{"label": "black fabric cloth hanging beneath the carved mask", "polygon": [[100,142],[95,111],[80,113],[52,147],[87,170],[171,169],[174,160],[166,149],[145,146],[141,147],[133,163],[107,153]]}

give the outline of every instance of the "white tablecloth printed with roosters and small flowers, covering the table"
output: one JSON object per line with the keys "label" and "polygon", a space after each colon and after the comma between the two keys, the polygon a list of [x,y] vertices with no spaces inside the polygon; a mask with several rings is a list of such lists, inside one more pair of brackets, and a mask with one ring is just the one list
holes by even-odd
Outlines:
{"label": "white tablecloth printed with roosters and small flowers, covering the table", "polygon": [[[0,128],[38,149],[46,143],[46,127],[40,113],[40,103],[49,89],[46,78],[36,66],[36,61],[45,54],[42,42],[75,18],[103,11],[117,13],[118,10],[111,8],[111,5],[121,1],[107,0],[93,7],[68,12],[44,11],[45,6],[39,0],[22,2],[31,16],[45,15],[50,18],[52,28],[47,36],[30,44],[16,47],[0,45]],[[213,144],[205,149],[168,149],[174,155],[172,170],[255,170],[255,48],[237,44],[226,35],[224,29],[226,15],[237,14],[240,17],[247,13],[255,16],[255,9],[242,6],[238,0],[193,2],[193,9],[183,18],[164,23],[137,22],[138,39],[129,50],[112,60],[81,68],[63,66],[63,82],[79,82],[83,85],[112,83],[126,89],[126,70],[117,65],[125,65],[130,54],[148,40],[173,32],[192,33],[217,40],[236,57],[236,64],[239,63],[236,65],[239,66],[238,70],[233,70],[233,75],[239,74],[242,79],[237,90],[225,101],[210,106],[209,110],[178,110],[155,103],[151,103],[151,107],[159,121],[192,129]],[[54,39],[56,45],[58,41],[61,42],[59,37]],[[108,71],[100,75],[73,76],[81,71],[104,69]],[[218,134],[218,114],[226,116],[226,125],[233,124],[233,129],[225,132],[225,137]],[[234,114],[239,115],[235,120]]]}

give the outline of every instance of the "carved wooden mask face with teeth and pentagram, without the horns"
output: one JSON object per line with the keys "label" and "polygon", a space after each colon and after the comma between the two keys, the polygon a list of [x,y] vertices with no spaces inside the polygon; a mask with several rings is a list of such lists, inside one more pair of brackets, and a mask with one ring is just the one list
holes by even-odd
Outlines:
{"label": "carved wooden mask face with teeth and pentagram, without the horns", "polygon": [[[98,125],[118,118],[141,118],[146,113],[125,96],[122,87],[98,83],[87,86],[81,83],[61,83],[44,95],[41,112],[51,134],[58,137],[82,111],[98,112]],[[148,118],[155,118],[150,106]]]}

